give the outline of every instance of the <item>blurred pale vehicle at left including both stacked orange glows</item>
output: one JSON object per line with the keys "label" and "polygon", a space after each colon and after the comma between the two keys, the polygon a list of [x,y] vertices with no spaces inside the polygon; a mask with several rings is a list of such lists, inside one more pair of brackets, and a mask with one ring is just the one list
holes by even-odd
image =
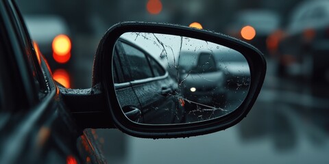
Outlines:
{"label": "blurred pale vehicle at left including both stacked orange glows", "polygon": [[[53,78],[71,87],[71,33],[65,20],[56,15],[31,14],[24,16],[34,49],[45,56]],[[71,72],[72,73],[72,72]]]}

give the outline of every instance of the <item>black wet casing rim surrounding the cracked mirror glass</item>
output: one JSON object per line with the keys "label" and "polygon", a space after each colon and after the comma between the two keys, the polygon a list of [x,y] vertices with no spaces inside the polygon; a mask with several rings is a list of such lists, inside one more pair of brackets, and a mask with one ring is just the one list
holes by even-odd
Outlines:
{"label": "black wet casing rim surrounding the cracked mirror glass", "polygon": [[[191,124],[146,125],[130,121],[121,110],[112,77],[114,44],[125,32],[180,35],[214,42],[239,51],[243,54],[245,59],[247,59],[251,74],[249,92],[245,100],[243,100],[242,104],[232,113],[203,122],[193,122]],[[224,130],[230,126],[234,126],[245,118],[260,92],[265,79],[265,72],[266,61],[263,54],[258,51],[258,49],[254,48],[254,46],[230,36],[202,29],[182,27],[180,25],[127,22],[119,23],[108,29],[99,42],[93,68],[93,85],[101,84],[102,90],[104,91],[107,107],[111,115],[109,120],[113,120],[113,122],[109,122],[109,124],[113,123],[114,126],[124,133],[145,138],[190,137]]]}

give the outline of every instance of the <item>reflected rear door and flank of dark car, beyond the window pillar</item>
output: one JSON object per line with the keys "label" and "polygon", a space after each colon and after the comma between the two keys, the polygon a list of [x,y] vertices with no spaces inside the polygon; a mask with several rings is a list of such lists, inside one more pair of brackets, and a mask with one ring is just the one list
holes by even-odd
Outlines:
{"label": "reflected rear door and flank of dark car, beyond the window pillar", "polygon": [[[147,52],[126,41],[119,42],[127,68],[130,84],[141,105],[141,122],[147,124],[171,124],[182,120],[175,96],[175,82],[160,64]],[[176,83],[177,85],[177,83]]]}

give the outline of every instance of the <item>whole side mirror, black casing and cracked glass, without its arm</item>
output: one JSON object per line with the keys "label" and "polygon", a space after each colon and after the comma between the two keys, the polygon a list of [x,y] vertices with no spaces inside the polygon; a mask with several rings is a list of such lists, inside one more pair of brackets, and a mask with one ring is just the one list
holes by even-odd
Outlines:
{"label": "whole side mirror, black casing and cracked glass, without its arm", "polygon": [[120,23],[103,36],[93,84],[110,120],[136,137],[189,137],[240,122],[266,72],[253,46],[221,33],[159,23]]}

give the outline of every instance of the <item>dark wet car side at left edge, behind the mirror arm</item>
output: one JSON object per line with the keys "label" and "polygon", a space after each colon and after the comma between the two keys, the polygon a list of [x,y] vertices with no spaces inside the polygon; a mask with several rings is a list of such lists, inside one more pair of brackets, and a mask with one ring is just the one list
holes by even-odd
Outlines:
{"label": "dark wet car side at left edge, behind the mirror arm", "polygon": [[0,161],[80,163],[77,127],[12,1],[0,1]]}

